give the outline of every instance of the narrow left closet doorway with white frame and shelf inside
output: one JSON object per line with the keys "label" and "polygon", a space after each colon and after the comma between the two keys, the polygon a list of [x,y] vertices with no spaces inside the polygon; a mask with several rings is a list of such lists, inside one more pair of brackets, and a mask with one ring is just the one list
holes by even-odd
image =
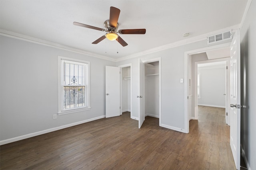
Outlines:
{"label": "narrow left closet doorway with white frame and shelf inside", "polygon": [[126,64],[119,66],[120,67],[120,115],[123,112],[129,111],[130,117],[132,117],[132,64]]}

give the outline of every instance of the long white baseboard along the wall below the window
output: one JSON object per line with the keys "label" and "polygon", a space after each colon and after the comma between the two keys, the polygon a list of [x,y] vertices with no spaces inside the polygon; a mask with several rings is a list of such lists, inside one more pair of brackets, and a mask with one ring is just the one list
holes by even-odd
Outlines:
{"label": "long white baseboard along the wall below the window", "polygon": [[46,129],[46,130],[39,131],[39,132],[30,133],[30,134],[27,134],[27,135],[14,137],[14,138],[11,138],[11,139],[2,140],[2,141],[0,141],[0,145],[20,141],[22,139],[35,137],[35,136],[42,135],[42,134],[49,133],[49,132],[53,132],[53,131],[58,131],[60,129],[64,129],[64,128],[67,128],[67,127],[72,127],[72,126],[75,126],[75,125],[80,125],[82,123],[86,123],[86,122],[89,122],[89,121],[94,121],[94,120],[97,120],[97,119],[102,119],[104,117],[106,117],[106,115],[99,116],[99,117],[94,117],[92,119],[87,119],[87,120],[83,120],[83,121],[78,121],[78,122],[75,122],[75,123],[70,123],[68,125],[62,125],[62,126],[59,126],[59,127],[54,127],[54,128],[51,128],[51,129]]}

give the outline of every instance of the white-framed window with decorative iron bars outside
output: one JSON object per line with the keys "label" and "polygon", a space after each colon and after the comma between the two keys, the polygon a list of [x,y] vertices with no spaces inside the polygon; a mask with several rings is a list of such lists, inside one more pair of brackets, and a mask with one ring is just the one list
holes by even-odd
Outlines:
{"label": "white-framed window with decorative iron bars outside", "polygon": [[90,62],[59,57],[58,114],[90,109]]}

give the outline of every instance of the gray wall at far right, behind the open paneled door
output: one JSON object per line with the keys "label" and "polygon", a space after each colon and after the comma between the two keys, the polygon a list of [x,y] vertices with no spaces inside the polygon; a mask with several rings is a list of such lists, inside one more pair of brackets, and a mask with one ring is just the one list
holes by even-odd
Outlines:
{"label": "gray wall at far right, behind the open paneled door", "polygon": [[251,170],[256,170],[256,1],[252,0],[241,37],[241,146]]}

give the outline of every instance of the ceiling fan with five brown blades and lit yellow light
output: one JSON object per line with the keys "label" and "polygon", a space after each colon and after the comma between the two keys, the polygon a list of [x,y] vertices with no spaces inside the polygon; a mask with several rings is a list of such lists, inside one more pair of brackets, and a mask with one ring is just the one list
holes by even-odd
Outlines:
{"label": "ceiling fan with five brown blades and lit yellow light", "polygon": [[90,29],[96,29],[96,30],[99,30],[99,31],[106,31],[107,32],[105,35],[103,35],[102,37],[100,37],[96,41],[92,42],[92,44],[98,44],[100,41],[107,38],[111,41],[116,40],[123,47],[125,47],[128,44],[117,33],[119,33],[119,34],[145,34],[146,29],[120,29],[120,30],[117,31],[118,25],[119,25],[118,24],[119,14],[120,14],[120,10],[118,8],[115,8],[113,6],[110,7],[109,20],[106,20],[104,22],[105,29],[94,27],[94,26],[91,26],[91,25],[86,25],[86,24],[83,24],[83,23],[78,23],[78,22],[74,22],[73,24],[77,25],[77,26],[80,26],[80,27],[86,27],[86,28],[90,28]]}

